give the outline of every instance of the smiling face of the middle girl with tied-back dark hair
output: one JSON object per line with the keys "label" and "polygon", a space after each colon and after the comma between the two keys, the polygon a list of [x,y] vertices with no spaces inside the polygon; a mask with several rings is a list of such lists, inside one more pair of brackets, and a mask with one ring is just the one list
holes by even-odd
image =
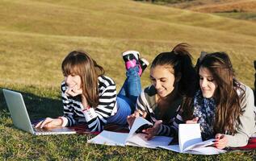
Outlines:
{"label": "smiling face of the middle girl with tied-back dark hair", "polygon": [[166,97],[174,90],[175,76],[171,70],[162,65],[150,69],[150,79],[159,97]]}

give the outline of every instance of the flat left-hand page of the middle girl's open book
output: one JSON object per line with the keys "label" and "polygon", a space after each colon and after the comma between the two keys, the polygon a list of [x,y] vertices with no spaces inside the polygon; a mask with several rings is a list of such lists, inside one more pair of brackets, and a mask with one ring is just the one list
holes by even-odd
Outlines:
{"label": "flat left-hand page of the middle girl's open book", "polygon": [[127,133],[116,133],[112,131],[103,130],[100,134],[88,140],[88,143],[104,144],[109,146],[125,145],[125,140],[128,137]]}

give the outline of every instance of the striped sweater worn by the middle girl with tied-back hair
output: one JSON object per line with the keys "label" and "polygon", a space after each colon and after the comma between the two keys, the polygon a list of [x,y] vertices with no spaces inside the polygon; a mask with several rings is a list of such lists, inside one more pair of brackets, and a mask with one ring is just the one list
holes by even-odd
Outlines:
{"label": "striped sweater worn by the middle girl with tied-back hair", "polygon": [[174,134],[174,127],[172,127],[174,118],[178,114],[179,105],[181,99],[174,101],[164,114],[157,107],[157,92],[153,85],[145,88],[141,95],[136,101],[136,109],[140,109],[142,112],[146,112],[146,119],[149,122],[157,122],[157,120],[162,120],[162,125],[157,132],[157,135],[171,136]]}

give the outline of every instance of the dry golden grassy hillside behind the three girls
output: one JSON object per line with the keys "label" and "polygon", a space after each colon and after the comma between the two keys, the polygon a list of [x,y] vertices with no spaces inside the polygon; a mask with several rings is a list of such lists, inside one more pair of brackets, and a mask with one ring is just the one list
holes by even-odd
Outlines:
{"label": "dry golden grassy hillside behind the three girls", "polygon": [[[152,60],[158,52],[187,42],[195,58],[203,50],[229,52],[238,77],[253,85],[255,23],[126,0],[0,4],[2,83],[57,86],[62,79],[61,60],[82,48],[105,64],[120,85],[124,77],[115,76],[124,73],[120,52],[136,49]],[[117,61],[108,59],[113,57]],[[147,76],[143,80],[149,82]]]}

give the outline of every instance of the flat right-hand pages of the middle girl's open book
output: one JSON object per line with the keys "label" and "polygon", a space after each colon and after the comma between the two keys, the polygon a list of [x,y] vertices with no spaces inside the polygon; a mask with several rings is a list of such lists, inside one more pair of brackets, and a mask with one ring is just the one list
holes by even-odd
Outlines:
{"label": "flat right-hand pages of the middle girl's open book", "polygon": [[128,139],[127,145],[136,145],[138,147],[149,147],[157,148],[159,146],[167,146],[169,142],[173,139],[166,136],[155,136],[151,140],[145,138],[146,134],[133,134],[131,138]]}

